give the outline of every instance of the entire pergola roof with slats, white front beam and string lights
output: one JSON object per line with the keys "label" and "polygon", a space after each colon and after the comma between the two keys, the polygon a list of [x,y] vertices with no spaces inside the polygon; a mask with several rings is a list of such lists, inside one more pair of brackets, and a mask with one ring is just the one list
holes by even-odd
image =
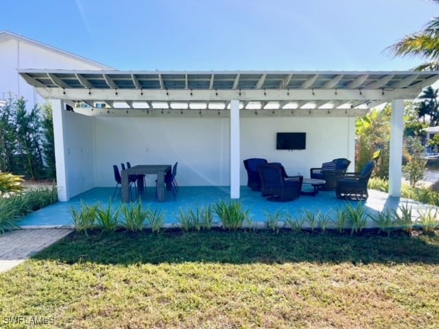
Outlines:
{"label": "entire pergola roof with slats, white front beam and string lights", "polygon": [[[244,109],[251,102],[260,108],[315,108],[328,102],[333,108],[369,108],[391,99],[414,99],[439,79],[438,71],[19,71],[43,97],[88,104],[126,102],[132,108],[143,101],[166,103],[167,108],[200,108],[197,102],[237,99]],[[296,105],[291,105],[294,102]],[[111,104],[111,106],[110,106]],[[254,104],[253,104],[254,106]],[[209,105],[206,105],[209,109]]]}

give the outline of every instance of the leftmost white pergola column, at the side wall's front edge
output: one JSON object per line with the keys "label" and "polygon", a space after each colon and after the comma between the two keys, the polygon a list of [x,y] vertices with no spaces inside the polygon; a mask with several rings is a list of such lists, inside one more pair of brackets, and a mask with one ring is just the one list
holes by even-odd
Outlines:
{"label": "leftmost white pergola column, at the side wall's front edge", "polygon": [[52,113],[54,119],[54,140],[55,140],[55,161],[56,161],[56,185],[58,188],[58,200],[69,201],[67,193],[67,167],[66,153],[64,147],[64,123],[65,110],[64,101],[51,99]]}

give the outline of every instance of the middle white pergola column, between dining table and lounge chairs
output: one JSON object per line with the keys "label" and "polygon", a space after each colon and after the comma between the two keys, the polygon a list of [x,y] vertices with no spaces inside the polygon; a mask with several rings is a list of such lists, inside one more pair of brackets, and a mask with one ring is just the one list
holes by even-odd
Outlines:
{"label": "middle white pergola column, between dining table and lounge chairs", "polygon": [[239,136],[239,101],[230,101],[230,198],[239,199],[239,164],[241,163]]}

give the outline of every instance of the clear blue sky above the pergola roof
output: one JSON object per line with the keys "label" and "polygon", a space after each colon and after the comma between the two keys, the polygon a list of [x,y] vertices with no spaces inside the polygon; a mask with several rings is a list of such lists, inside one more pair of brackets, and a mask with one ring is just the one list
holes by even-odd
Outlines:
{"label": "clear blue sky above the pergola roof", "polygon": [[399,71],[428,0],[8,0],[7,30],[121,70]]}

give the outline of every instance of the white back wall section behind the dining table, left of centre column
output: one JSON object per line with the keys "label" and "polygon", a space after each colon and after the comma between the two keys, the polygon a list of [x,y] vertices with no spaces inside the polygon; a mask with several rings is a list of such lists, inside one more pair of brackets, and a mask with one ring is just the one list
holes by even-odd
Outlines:
{"label": "white back wall section behind the dining table, left of centre column", "polygon": [[[112,164],[174,164],[180,186],[230,184],[229,120],[97,117],[96,185],[115,186]],[[147,185],[155,184],[155,177]]]}

